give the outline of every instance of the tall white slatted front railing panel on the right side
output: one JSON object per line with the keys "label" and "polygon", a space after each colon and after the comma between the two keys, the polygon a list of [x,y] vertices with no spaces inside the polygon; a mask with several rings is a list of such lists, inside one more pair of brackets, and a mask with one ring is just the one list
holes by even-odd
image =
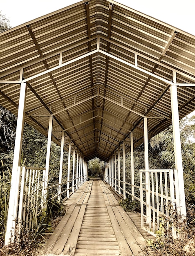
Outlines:
{"label": "tall white slatted front railing panel on the right side", "polygon": [[176,205],[177,170],[140,170],[141,228],[156,236],[160,216]]}

